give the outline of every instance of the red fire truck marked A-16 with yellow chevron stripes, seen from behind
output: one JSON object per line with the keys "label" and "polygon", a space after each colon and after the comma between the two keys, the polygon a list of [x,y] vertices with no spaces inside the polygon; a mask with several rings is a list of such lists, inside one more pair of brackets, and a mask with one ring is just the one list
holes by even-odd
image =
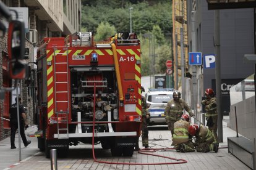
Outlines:
{"label": "red fire truck marked A-16 with yellow chevron stripes, seen from behind", "polygon": [[44,38],[37,50],[38,148],[67,155],[70,145],[100,142],[132,156],[141,131],[140,41],[117,33]]}

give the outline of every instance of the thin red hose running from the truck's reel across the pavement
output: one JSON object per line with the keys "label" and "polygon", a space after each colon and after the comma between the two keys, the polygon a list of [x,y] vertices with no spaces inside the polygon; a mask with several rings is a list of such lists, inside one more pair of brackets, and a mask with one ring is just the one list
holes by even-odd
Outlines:
{"label": "thin red hose running from the truck's reel across the pavement", "polygon": [[[93,102],[95,103],[96,102],[96,84],[94,83],[94,98],[93,98]],[[169,160],[175,160],[175,161],[178,161],[178,162],[173,162],[173,163],[117,163],[117,162],[108,162],[108,161],[98,161],[95,157],[95,152],[94,152],[94,135],[95,135],[95,105],[93,107],[93,134],[92,134],[92,151],[93,151],[93,160],[97,163],[107,163],[107,164],[129,164],[129,165],[160,165],[160,164],[181,164],[181,163],[187,163],[186,160],[183,160],[183,159],[176,159],[176,158],[171,158],[171,157],[168,157],[168,156],[161,156],[161,155],[156,155],[156,154],[152,154],[152,153],[145,153],[145,151],[147,150],[147,152],[156,152],[156,150],[162,150],[163,148],[154,148],[154,149],[142,149],[140,150],[138,153],[140,154],[144,154],[144,155],[151,155],[151,156],[158,156],[158,157],[161,157],[161,158],[166,158],[166,159],[169,159]],[[166,149],[174,149],[174,148],[164,148],[165,150]]]}

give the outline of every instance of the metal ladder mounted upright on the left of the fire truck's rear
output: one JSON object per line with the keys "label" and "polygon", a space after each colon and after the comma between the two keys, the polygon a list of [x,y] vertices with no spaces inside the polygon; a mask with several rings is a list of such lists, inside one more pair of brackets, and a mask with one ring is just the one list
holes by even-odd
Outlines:
{"label": "metal ladder mounted upright on the left of the fire truck's rear", "polygon": [[[68,48],[66,48],[66,52],[59,53],[56,52],[56,48],[54,47],[54,88],[55,88],[55,113],[57,116],[57,130],[58,130],[58,139],[68,139],[69,138],[69,75],[68,75]],[[66,55],[66,57],[64,57]],[[65,59],[66,58],[66,59]],[[63,94],[63,95],[61,95]],[[66,97],[65,97],[66,94]],[[61,95],[63,97],[56,97],[57,95]],[[58,108],[65,108],[59,109]],[[60,119],[59,119],[60,118]],[[61,128],[59,125],[62,124]],[[63,127],[64,126],[64,127]],[[60,137],[60,132],[66,132],[66,136]]]}

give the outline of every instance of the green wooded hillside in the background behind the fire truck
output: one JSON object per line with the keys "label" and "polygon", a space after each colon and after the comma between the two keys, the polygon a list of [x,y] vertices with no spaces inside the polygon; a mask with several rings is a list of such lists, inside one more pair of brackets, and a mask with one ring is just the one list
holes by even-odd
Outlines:
{"label": "green wooded hillside in the background behind the fire truck", "polygon": [[[129,10],[133,7],[132,10]],[[172,1],[169,0],[82,0],[82,30],[92,31],[95,41],[103,40],[117,32],[137,33],[141,42],[141,73],[165,73],[166,60],[171,60]],[[149,39],[143,34],[154,34],[155,65]],[[152,40],[151,40],[152,41]]]}

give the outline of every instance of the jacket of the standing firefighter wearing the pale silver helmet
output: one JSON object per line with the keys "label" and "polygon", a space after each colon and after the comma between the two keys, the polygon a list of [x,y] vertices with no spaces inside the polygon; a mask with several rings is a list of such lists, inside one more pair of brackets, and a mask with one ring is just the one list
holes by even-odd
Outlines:
{"label": "jacket of the standing firefighter wearing the pale silver helmet", "polygon": [[183,99],[179,99],[179,101],[176,101],[174,99],[170,100],[164,110],[165,118],[173,121],[178,121],[179,119],[181,119],[184,109],[189,112],[190,116],[194,116],[189,105],[187,105],[187,103]]}

